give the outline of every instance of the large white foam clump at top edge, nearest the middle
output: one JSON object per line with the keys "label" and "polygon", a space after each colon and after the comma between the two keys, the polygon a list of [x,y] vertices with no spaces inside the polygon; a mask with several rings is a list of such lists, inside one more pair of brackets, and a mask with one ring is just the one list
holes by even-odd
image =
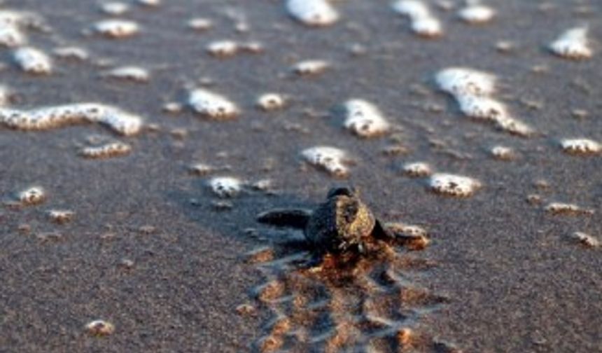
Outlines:
{"label": "large white foam clump at top edge, nearest the middle", "polygon": [[333,25],[339,13],[328,0],[285,0],[286,10],[296,20],[311,27]]}

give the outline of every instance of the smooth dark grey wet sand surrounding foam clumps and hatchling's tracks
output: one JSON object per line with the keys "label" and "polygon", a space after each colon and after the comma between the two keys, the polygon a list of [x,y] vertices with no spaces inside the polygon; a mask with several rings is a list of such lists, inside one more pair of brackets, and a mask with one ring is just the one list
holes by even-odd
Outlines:
{"label": "smooth dark grey wet sand surrounding foam clumps and hatchling's tracks", "polygon": [[[431,6],[444,36],[425,40],[410,32],[409,20],[393,13],[388,1],[337,1],[336,25],[307,29],[288,17],[281,1],[165,0],[158,8],[132,6],[124,15],[141,25],[138,36],[107,40],[82,34],[109,17],[97,1],[4,1],[2,8],[45,19],[52,32],[28,34],[31,45],[46,53],[81,46],[92,61],[137,64],[153,74],[146,85],[123,83],[99,78],[103,69],[91,62],[55,59],[51,76],[30,76],[3,49],[7,67],[0,83],[15,92],[14,106],[102,102],[144,116],[158,130],[127,138],[99,125],[0,130],[3,199],[31,185],[48,193],[41,205],[0,210],[0,352],[255,349],[272,313],[253,298],[265,279],[246,254],[283,235],[258,226],[255,215],[315,205],[340,182],[300,167],[300,152],[322,144],[356,158],[342,182],[360,188],[382,219],[419,224],[430,233],[432,244],[412,256],[436,265],[400,272],[447,300],[407,326],[464,352],[602,352],[602,252],[570,238],[577,231],[602,236],[602,159],[567,155],[557,145],[568,137],[602,141],[601,3],[484,2],[498,16],[480,26],[458,21],[455,10]],[[237,32],[229,13],[244,14],[249,31]],[[193,32],[186,28],[193,17],[209,18],[214,27]],[[550,41],[584,23],[594,39],[590,60],[548,53]],[[205,46],[219,39],[260,41],[265,53],[209,56]],[[515,48],[499,53],[498,41],[512,41]],[[352,55],[354,44],[365,54]],[[305,59],[329,60],[332,68],[314,78],[288,71]],[[437,71],[454,66],[498,76],[496,97],[538,134],[515,137],[463,117],[432,81]],[[167,102],[183,102],[186,86],[202,78],[237,102],[237,120],[210,121],[189,109],[162,112]],[[261,92],[286,93],[291,103],[263,113],[253,106]],[[352,97],[377,104],[402,126],[406,154],[382,153],[389,137],[358,139],[341,127],[331,109]],[[574,109],[589,115],[574,118]],[[174,129],[187,136],[175,137]],[[77,146],[90,134],[126,141],[132,153],[83,159]],[[488,149],[496,145],[512,147],[517,158],[491,158]],[[476,178],[483,188],[465,199],[435,195],[423,179],[403,176],[402,164],[412,161]],[[230,170],[198,177],[188,172],[195,162]],[[216,211],[207,180],[222,174],[272,179],[278,192],[245,192],[230,200],[232,209]],[[536,185],[541,180],[546,188]],[[532,194],[542,203],[527,202]],[[549,214],[548,202],[572,202],[594,214]],[[70,209],[75,216],[55,224],[50,209]],[[339,289],[344,296],[344,286]],[[256,314],[237,313],[244,303]],[[90,336],[85,325],[94,319],[110,321],[115,332]],[[307,329],[317,337],[332,327]],[[290,343],[283,349],[307,347]]]}

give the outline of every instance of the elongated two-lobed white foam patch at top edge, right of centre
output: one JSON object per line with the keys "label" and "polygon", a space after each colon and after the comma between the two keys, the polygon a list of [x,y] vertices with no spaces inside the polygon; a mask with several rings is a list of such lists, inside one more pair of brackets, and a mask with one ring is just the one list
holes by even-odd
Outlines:
{"label": "elongated two-lobed white foam patch at top edge, right of centre", "polygon": [[426,4],[419,0],[399,0],[392,5],[393,11],[409,17],[412,31],[419,36],[436,37],[442,35],[441,22],[431,13]]}

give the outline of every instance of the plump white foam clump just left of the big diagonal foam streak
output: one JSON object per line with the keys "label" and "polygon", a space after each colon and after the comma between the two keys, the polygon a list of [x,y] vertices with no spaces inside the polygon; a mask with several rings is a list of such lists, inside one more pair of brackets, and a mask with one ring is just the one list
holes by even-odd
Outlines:
{"label": "plump white foam clump just left of the big diagonal foam streak", "polygon": [[377,106],[363,99],[345,102],[344,126],[359,137],[375,137],[389,130],[389,123]]}

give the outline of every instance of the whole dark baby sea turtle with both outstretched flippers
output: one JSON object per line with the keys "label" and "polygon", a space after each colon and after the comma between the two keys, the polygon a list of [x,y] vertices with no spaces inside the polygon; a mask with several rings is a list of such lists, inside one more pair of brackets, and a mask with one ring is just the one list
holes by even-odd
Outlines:
{"label": "whole dark baby sea turtle with both outstretched flippers", "polygon": [[272,209],[258,215],[258,222],[302,229],[311,248],[318,253],[365,254],[379,242],[422,249],[425,235],[407,234],[395,225],[384,226],[359,198],[354,188],[331,188],[326,201],[314,211]]}

